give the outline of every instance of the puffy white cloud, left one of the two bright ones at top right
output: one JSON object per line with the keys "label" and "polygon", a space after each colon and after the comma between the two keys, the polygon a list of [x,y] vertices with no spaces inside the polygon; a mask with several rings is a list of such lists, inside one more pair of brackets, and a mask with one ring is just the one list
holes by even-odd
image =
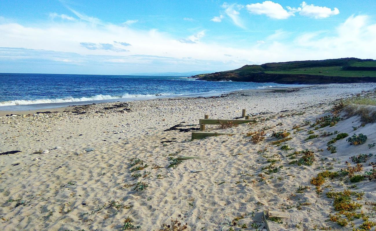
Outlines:
{"label": "puffy white cloud, left one of the two bright ones at top right", "polygon": [[264,14],[275,19],[286,19],[294,15],[293,12],[287,12],[280,4],[271,1],[249,4],[246,8],[251,14]]}

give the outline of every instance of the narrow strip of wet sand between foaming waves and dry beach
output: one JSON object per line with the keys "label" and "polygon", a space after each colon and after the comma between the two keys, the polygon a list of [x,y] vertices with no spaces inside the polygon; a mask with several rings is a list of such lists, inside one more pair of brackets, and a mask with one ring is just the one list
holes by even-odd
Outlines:
{"label": "narrow strip of wet sand between foaming waves and dry beach", "polygon": [[[148,101],[148,100],[178,100],[178,99],[194,99],[194,98],[213,98],[213,97],[226,97],[228,96],[229,94],[232,94],[232,93],[239,93],[239,92],[272,92],[272,91],[289,91],[290,89],[300,89],[300,88],[309,88],[309,87],[312,87],[312,86],[316,86],[316,85],[303,85],[303,86],[290,86],[290,87],[268,87],[268,88],[259,88],[259,89],[244,89],[244,90],[238,90],[238,91],[230,91],[230,92],[226,92],[226,93],[223,93],[221,95],[211,95],[211,96],[206,96],[206,97],[190,97],[190,96],[187,96],[187,97],[183,97],[183,96],[176,96],[176,97],[163,97],[163,98],[153,98],[153,99],[137,99],[137,100],[130,100],[130,101],[111,101],[111,102],[97,102],[97,103],[89,103],[91,101],[81,101],[81,102],[72,102],[72,103],[77,103],[75,105],[71,105],[71,106],[62,106],[62,107],[48,107],[48,108],[43,108],[43,109],[31,109],[31,110],[1,110],[1,107],[0,107],[0,116],[4,116],[4,115],[11,115],[11,114],[15,114],[15,115],[29,115],[29,114],[34,114],[34,113],[43,113],[43,112],[52,112],[52,113],[55,113],[55,112],[63,112],[63,111],[71,111],[73,110],[73,107],[77,107],[77,106],[87,106],[87,105],[91,105],[91,104],[103,104],[103,103],[117,103],[117,102],[133,102],[133,101]],[[80,103],[83,103],[83,102],[87,102],[85,104],[80,104]],[[51,106],[54,105],[55,103],[51,103]],[[40,104],[32,104],[32,105],[40,105]],[[22,106],[26,106],[26,105],[22,105]],[[7,107],[7,106],[4,106],[4,107]]]}

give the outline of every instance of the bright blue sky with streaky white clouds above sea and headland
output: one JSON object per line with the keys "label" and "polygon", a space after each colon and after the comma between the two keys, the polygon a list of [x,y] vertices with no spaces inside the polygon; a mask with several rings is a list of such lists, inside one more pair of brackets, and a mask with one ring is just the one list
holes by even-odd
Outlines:
{"label": "bright blue sky with streaky white clouds above sea and headland", "polygon": [[225,71],[376,59],[374,0],[0,0],[0,72]]}

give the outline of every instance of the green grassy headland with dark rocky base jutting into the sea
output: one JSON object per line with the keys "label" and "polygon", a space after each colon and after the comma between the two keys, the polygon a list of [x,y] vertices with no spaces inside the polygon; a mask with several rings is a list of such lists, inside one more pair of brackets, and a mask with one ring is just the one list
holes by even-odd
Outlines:
{"label": "green grassy headland with dark rocky base jutting into the sea", "polygon": [[265,63],[192,77],[209,81],[304,84],[376,82],[376,60],[342,58]]}

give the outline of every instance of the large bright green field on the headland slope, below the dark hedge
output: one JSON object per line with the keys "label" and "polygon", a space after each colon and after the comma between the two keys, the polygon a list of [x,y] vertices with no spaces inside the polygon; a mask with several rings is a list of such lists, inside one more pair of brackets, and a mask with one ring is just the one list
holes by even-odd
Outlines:
{"label": "large bright green field on the headland slope, below the dark hedge", "polygon": [[[370,61],[372,62],[372,61]],[[365,63],[365,62],[361,62]],[[376,63],[376,62],[375,62]],[[354,63],[356,64],[356,63]],[[364,64],[362,64],[364,65]],[[368,64],[369,65],[369,64]],[[306,71],[305,71],[306,70]],[[320,73],[321,71],[321,73]],[[324,76],[342,76],[342,77],[376,77],[376,71],[343,71],[340,66],[299,68],[288,71],[265,71],[270,74],[308,74]]]}

